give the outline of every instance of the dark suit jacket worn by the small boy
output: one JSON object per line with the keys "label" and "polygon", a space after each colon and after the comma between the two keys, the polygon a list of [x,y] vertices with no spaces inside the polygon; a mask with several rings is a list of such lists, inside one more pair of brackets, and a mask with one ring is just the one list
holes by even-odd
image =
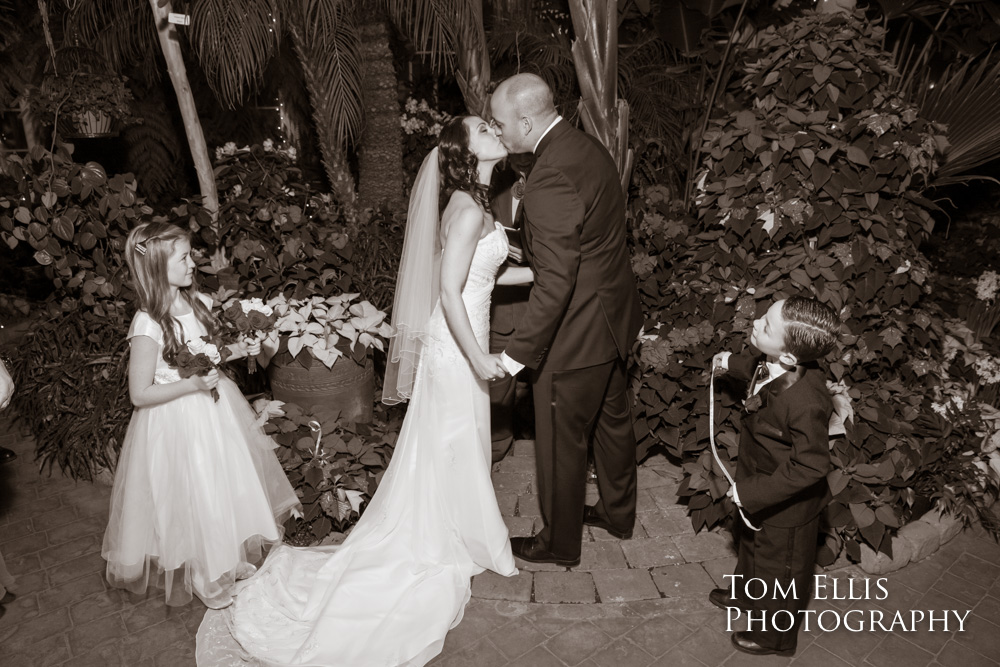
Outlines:
{"label": "dark suit jacket worn by the small boy", "polygon": [[[763,357],[734,354],[730,373],[749,381]],[[765,384],[763,405],[745,412],[740,430],[736,490],[743,508],[758,521],[801,526],[830,502],[830,415],[833,401],[826,375],[815,364]]]}

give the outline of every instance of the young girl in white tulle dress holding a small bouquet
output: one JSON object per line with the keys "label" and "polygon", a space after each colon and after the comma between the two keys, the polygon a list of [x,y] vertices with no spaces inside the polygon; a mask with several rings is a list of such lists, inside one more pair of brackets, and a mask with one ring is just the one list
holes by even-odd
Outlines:
{"label": "young girl in white tulle dress holding a small bouquet", "polygon": [[[190,234],[167,223],[140,224],[126,241],[139,302],[128,332],[135,410],[102,555],[113,586],[161,587],[169,605],[194,593],[222,608],[300,504],[236,384],[215,369],[182,379],[177,368],[182,350],[221,360],[202,340],[218,325],[211,299],[196,290],[190,252]],[[258,346],[230,347],[242,357]]]}

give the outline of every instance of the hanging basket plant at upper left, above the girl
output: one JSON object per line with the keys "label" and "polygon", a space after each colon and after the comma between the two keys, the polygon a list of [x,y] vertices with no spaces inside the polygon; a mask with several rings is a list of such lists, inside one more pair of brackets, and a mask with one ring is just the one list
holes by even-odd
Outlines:
{"label": "hanging basket plant at upper left, above the girl", "polygon": [[28,101],[63,136],[111,136],[119,125],[134,121],[132,91],[125,82],[125,77],[86,68],[49,74],[29,89]]}

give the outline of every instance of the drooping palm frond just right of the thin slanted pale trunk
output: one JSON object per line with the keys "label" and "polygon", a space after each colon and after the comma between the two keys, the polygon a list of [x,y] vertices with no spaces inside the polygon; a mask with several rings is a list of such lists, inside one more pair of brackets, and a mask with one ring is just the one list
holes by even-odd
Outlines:
{"label": "drooping palm frond just right of the thin slanted pale trunk", "polygon": [[260,82],[281,26],[274,0],[200,0],[192,4],[189,30],[209,86],[235,107]]}

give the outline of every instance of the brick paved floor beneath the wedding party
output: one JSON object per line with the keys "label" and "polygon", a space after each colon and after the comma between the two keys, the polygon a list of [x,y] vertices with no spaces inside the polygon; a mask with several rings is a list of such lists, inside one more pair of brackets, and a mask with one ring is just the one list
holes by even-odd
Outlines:
{"label": "brick paved floor beneath the wedding party", "polygon": [[[34,443],[0,422],[0,446],[19,453],[0,466],[0,551],[17,578],[17,599],[0,618],[4,667],[168,667],[194,664],[200,603],[170,608],[162,596],[136,597],[104,582],[100,543],[110,489],[39,475]],[[513,535],[538,520],[531,443],[519,442],[494,473],[500,506]],[[584,534],[580,567],[520,563],[521,574],[485,573],[449,633],[439,667],[684,667],[817,665],[871,667],[1000,664],[1000,547],[966,531],[929,558],[889,575],[885,600],[814,601],[817,613],[884,614],[885,625],[803,632],[792,659],[755,658],[730,645],[726,613],[706,596],[732,571],[735,557],[719,533],[695,535],[674,497],[679,472],[654,459],[640,470],[639,523],[632,540],[605,531]],[[593,500],[594,491],[590,492]],[[866,577],[854,566],[829,573],[841,582]],[[872,582],[874,583],[874,582]],[[845,590],[842,585],[841,590]],[[901,610],[958,610],[947,631],[891,626]],[[907,621],[909,623],[909,621]],[[814,623],[815,625],[815,623]],[[734,628],[745,627],[737,621]],[[922,624],[926,628],[926,622]]]}

